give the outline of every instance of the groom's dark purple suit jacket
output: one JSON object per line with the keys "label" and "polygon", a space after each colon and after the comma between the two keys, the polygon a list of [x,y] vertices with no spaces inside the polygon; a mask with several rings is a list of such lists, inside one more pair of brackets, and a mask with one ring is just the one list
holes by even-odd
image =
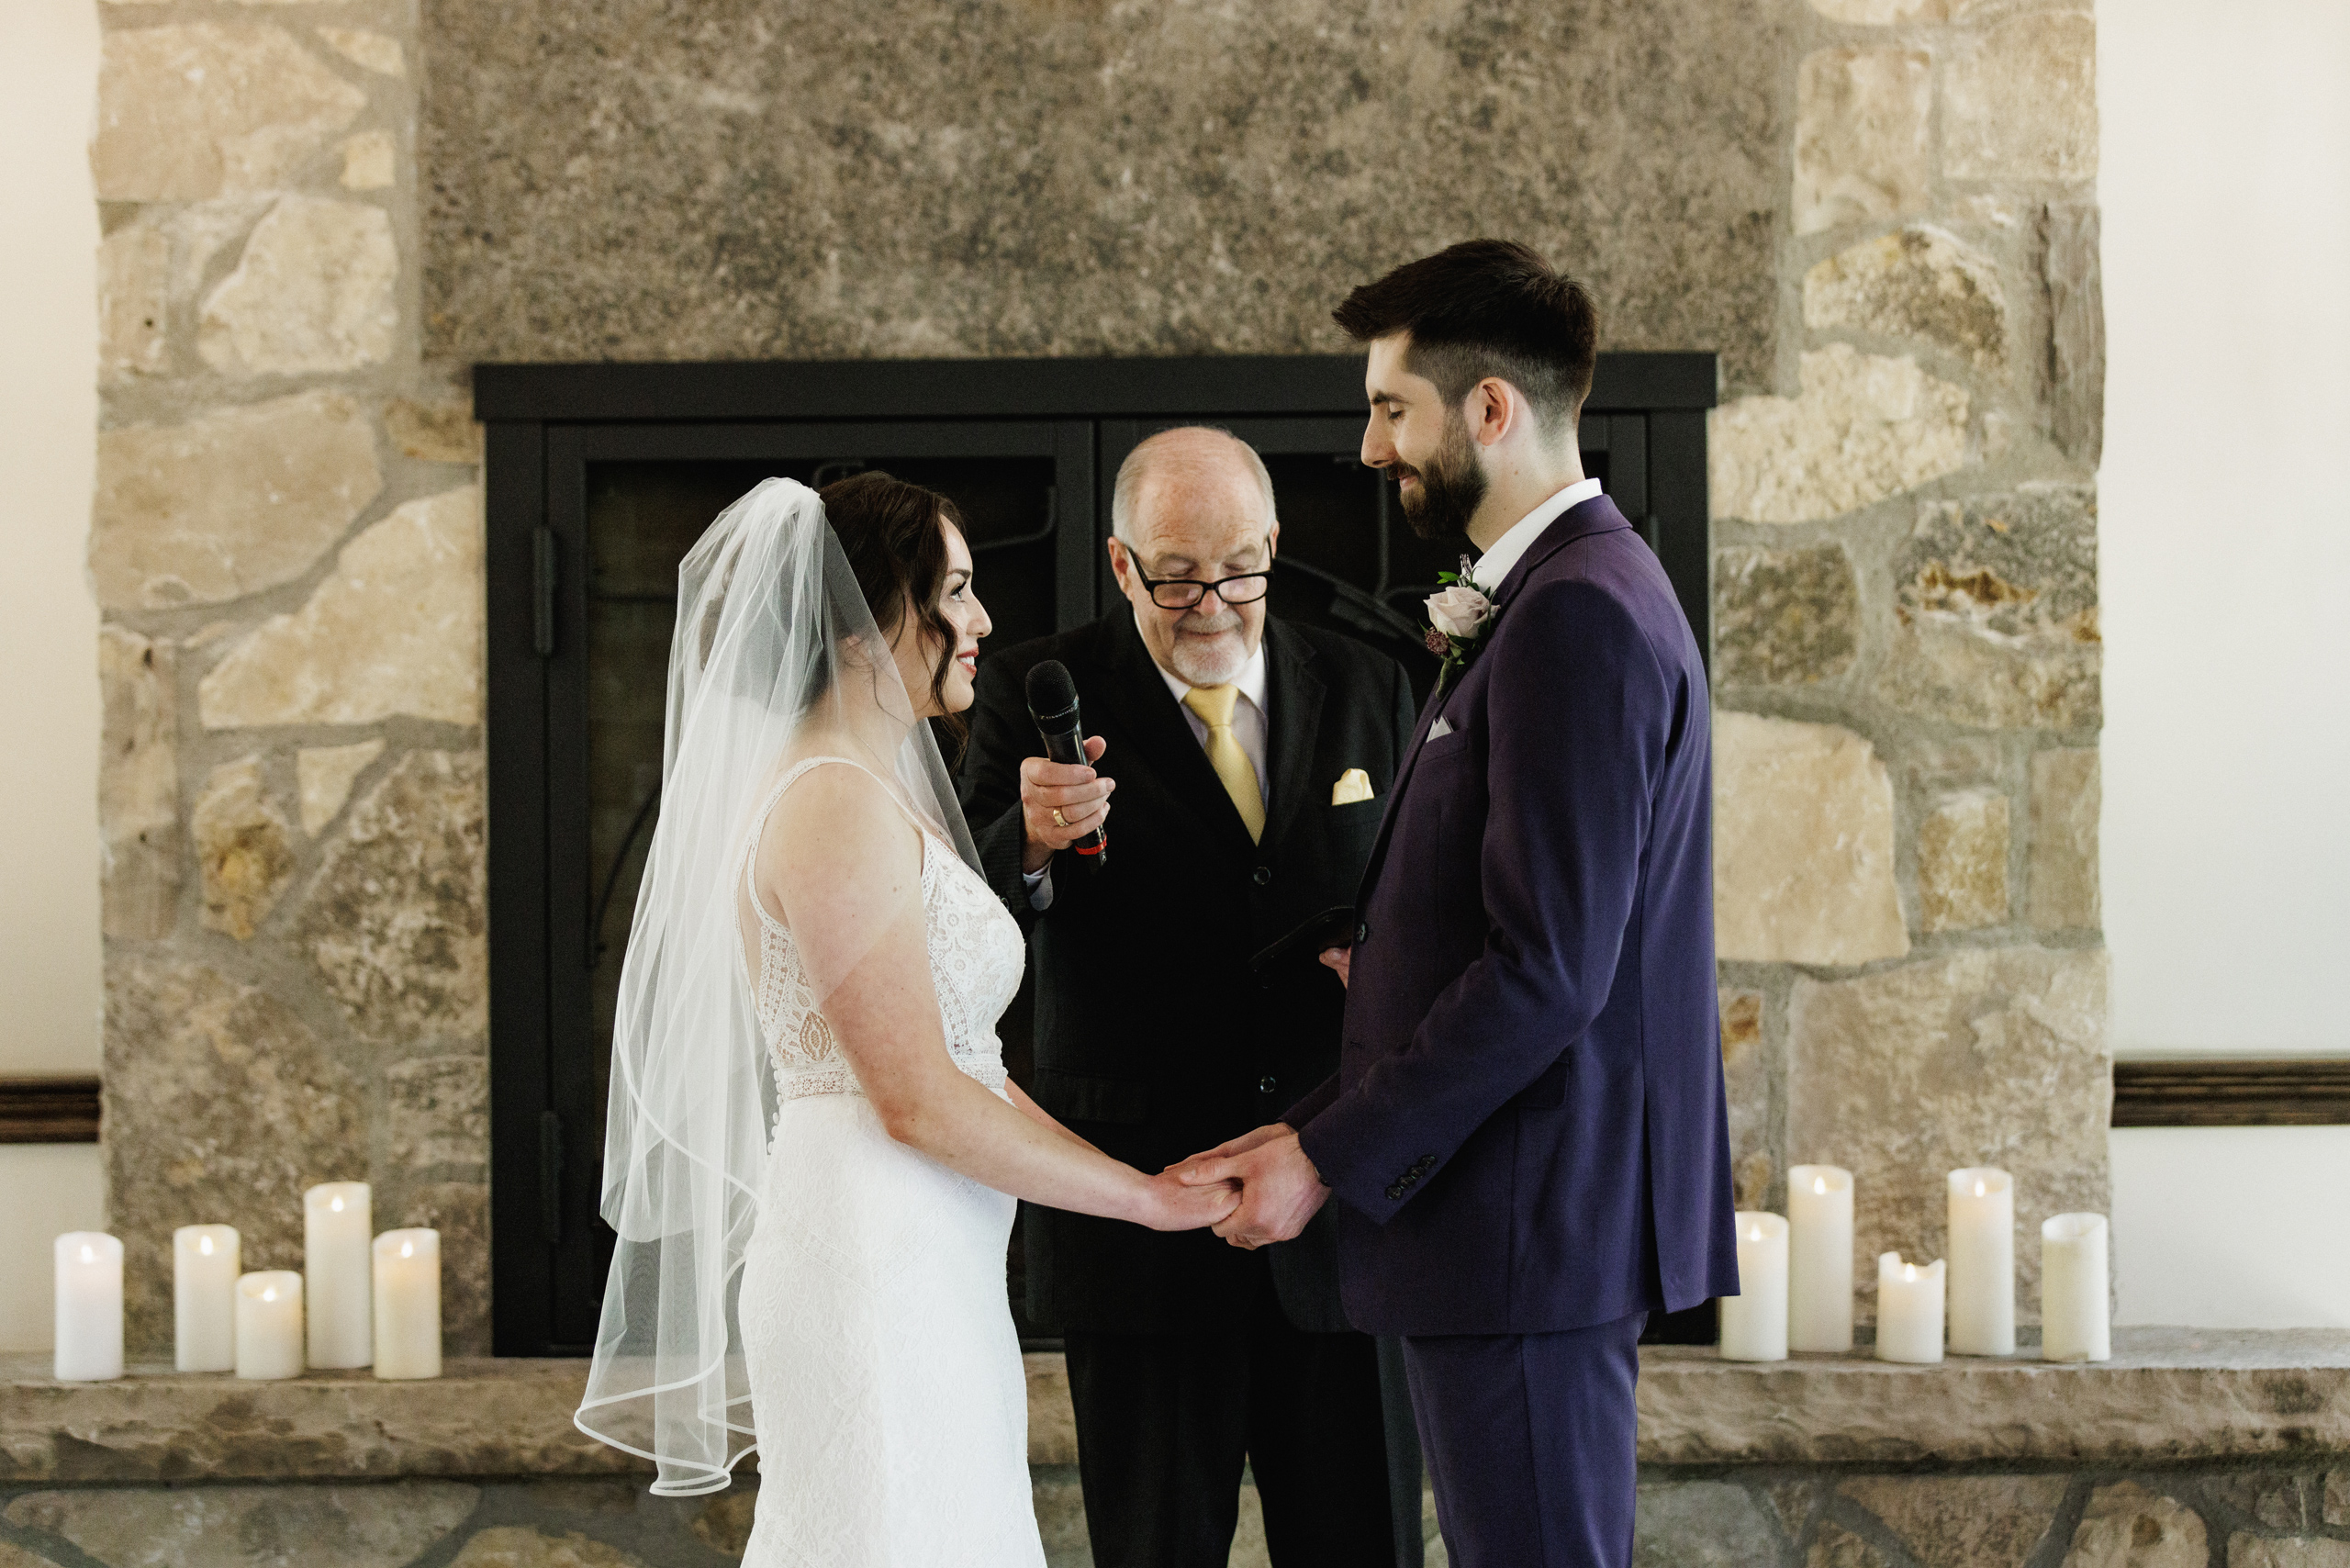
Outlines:
{"label": "groom's dark purple suit jacket", "polygon": [[1340,1199],[1368,1333],[1556,1333],[1737,1291],[1704,661],[1605,496],[1495,602],[1372,842],[1340,1072],[1285,1117]]}

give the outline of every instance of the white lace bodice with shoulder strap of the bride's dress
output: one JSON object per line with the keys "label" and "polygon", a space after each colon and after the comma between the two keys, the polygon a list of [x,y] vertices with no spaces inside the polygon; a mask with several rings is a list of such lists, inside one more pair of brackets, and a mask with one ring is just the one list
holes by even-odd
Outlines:
{"label": "white lace bodice with shoulder strap of the bride's dress", "polygon": [[[794,764],[776,783],[766,806],[759,809],[743,856],[747,889],[750,865],[759,851],[759,830],[766,827],[776,802],[808,769],[827,762],[872,771],[846,757],[808,757]],[[881,788],[888,790],[886,783]],[[938,832],[912,813],[907,816],[921,830],[921,912],[931,947],[931,990],[938,992],[947,1053],[980,1084],[1003,1088],[1003,1041],[996,1039],[996,1018],[1020,990],[1020,969],[1027,961],[1020,924]],[[759,1004],[759,1032],[776,1063],[776,1098],[862,1093],[855,1070],[832,1039],[832,1027],[815,1011],[792,929],[766,912],[757,889],[750,889],[750,903],[759,914],[759,966],[752,976],[752,994]]]}

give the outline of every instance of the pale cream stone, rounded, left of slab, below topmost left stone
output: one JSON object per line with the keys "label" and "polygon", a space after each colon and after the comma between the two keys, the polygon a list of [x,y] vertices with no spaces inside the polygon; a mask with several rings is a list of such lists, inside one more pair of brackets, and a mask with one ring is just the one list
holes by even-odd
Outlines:
{"label": "pale cream stone, rounded, left of slab, below topmost left stone", "polygon": [[400,327],[397,284],[388,212],[289,195],[254,226],[237,270],[204,301],[195,348],[214,369],[244,376],[381,364]]}

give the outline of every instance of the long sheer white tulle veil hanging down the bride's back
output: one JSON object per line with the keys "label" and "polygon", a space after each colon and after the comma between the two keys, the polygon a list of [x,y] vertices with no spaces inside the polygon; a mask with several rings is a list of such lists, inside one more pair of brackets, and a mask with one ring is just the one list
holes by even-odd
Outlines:
{"label": "long sheer white tulle veil hanging down the bride's back", "polygon": [[656,1460],[656,1493],[721,1490],[752,1450],[736,1288],[773,1124],[738,917],[752,816],[811,733],[853,733],[978,865],[914,712],[815,491],[766,480],[726,508],[677,574],[660,820],[611,1041],[604,1220],[618,1248],[573,1418]]}

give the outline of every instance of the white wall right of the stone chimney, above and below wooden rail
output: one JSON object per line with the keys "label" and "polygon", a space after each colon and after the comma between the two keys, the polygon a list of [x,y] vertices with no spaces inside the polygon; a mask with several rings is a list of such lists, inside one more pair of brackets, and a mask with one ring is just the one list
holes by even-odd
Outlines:
{"label": "white wall right of the stone chimney, above and below wooden rail", "polygon": [[[2350,7],[2099,7],[2117,1056],[2350,1053]],[[2350,1326],[2350,1128],[2113,1135],[2122,1321]]]}

